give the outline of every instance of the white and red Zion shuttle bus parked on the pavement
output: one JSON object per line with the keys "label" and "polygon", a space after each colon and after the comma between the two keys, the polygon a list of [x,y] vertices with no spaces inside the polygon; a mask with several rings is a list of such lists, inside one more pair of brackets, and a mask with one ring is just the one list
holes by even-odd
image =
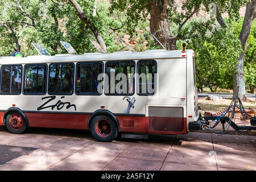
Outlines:
{"label": "white and red Zion shuttle bus parked on the pavement", "polygon": [[199,129],[194,55],[0,57],[0,125],[15,134],[27,127],[90,130],[105,142],[118,133],[186,134]]}

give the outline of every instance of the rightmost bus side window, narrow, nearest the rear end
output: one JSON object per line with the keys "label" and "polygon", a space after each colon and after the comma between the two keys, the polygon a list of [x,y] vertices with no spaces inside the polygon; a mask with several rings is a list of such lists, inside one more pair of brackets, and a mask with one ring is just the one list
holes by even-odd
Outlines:
{"label": "rightmost bus side window, narrow, nearest the rear end", "polygon": [[140,96],[148,96],[155,94],[156,88],[156,61],[155,60],[139,60],[137,63],[137,94]]}

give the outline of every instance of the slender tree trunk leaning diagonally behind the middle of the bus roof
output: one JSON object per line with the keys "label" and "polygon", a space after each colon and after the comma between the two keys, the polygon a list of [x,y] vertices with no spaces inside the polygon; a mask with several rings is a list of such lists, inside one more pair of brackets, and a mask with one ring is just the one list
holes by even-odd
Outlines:
{"label": "slender tree trunk leaning diagonally behind the middle of the bus roof", "polygon": [[105,45],[104,40],[102,39],[101,35],[99,34],[99,32],[98,32],[97,28],[94,26],[94,24],[85,16],[84,11],[82,11],[79,3],[77,3],[76,0],[69,0],[69,1],[75,7],[79,18],[82,20],[82,22],[84,22],[86,24],[86,26],[88,26],[90,28],[90,30],[92,30],[94,36],[97,39],[97,42],[100,44],[102,49],[104,49],[104,51],[106,51],[106,45]]}

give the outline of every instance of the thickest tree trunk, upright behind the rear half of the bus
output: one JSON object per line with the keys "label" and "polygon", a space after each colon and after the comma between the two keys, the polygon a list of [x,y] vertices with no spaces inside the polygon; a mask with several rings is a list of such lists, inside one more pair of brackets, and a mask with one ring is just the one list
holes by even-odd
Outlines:
{"label": "thickest tree trunk, upright behind the rear half of the bus", "polygon": [[[176,41],[171,35],[167,18],[167,0],[152,0],[150,3],[150,30],[167,50],[177,50]],[[156,42],[158,44],[158,42]]]}

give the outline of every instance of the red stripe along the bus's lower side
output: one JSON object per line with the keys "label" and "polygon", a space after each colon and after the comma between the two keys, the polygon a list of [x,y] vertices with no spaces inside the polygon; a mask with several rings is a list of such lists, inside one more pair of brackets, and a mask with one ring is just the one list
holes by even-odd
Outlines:
{"label": "red stripe along the bus's lower side", "polygon": [[[5,112],[0,112],[0,125],[3,125],[3,115]],[[80,129],[88,130],[87,122],[89,114],[57,114],[57,113],[25,113],[31,127],[50,127],[60,129]],[[187,118],[183,119],[183,130],[176,131],[149,131],[148,117],[134,115],[116,115],[122,132],[134,133],[159,133],[159,134],[186,134],[187,133]],[[170,118],[169,118],[170,119]],[[179,119],[178,119],[179,120]],[[178,122],[178,120],[176,122]],[[159,117],[159,123],[163,121]],[[175,119],[174,119],[175,122]]]}

